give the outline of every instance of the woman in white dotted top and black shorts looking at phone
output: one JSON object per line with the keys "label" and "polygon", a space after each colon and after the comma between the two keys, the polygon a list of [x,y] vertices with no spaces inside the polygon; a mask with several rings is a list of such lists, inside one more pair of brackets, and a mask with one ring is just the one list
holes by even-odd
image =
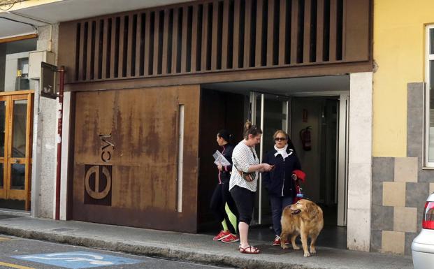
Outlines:
{"label": "woman in white dotted top and black shorts looking at phone", "polygon": [[[261,142],[262,131],[247,120],[245,124],[244,140],[242,140],[232,152],[232,173],[229,181],[229,191],[236,203],[239,221],[238,233],[240,234],[240,252],[258,254],[259,249],[250,246],[247,240],[249,224],[252,220],[258,173],[273,169],[268,163],[259,163],[259,158],[254,151],[254,146]],[[254,173],[254,180],[247,182],[241,173]]]}

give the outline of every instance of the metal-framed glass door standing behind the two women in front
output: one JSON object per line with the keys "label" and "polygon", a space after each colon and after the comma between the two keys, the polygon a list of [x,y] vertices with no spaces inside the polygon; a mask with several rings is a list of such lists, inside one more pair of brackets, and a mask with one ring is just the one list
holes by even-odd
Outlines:
{"label": "metal-framed glass door standing behind the two women in front", "polygon": [[[274,146],[273,134],[277,130],[288,133],[289,126],[289,102],[288,96],[250,93],[250,116],[252,123],[262,129],[261,144],[256,147],[256,154],[262,161],[263,154]],[[259,174],[258,189],[256,191],[256,203],[254,207],[254,222],[256,224],[271,223],[270,204],[268,194],[263,189],[261,174]]]}

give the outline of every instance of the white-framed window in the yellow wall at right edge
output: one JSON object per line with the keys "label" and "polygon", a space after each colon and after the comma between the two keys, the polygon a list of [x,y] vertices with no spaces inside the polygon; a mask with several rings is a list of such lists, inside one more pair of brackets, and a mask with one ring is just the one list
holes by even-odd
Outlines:
{"label": "white-framed window in the yellow wall at right edge", "polygon": [[426,166],[434,167],[434,24],[426,27]]}

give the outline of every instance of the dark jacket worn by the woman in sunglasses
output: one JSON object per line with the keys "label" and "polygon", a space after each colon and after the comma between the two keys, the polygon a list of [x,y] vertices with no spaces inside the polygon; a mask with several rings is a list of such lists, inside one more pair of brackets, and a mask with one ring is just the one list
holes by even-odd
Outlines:
{"label": "dark jacket worn by the woman in sunglasses", "polygon": [[273,148],[273,150],[266,153],[263,159],[264,163],[275,165],[275,168],[270,172],[262,173],[263,184],[268,189],[270,196],[295,197],[296,188],[292,179],[292,171],[301,170],[300,161],[298,161],[296,152],[290,147],[287,147],[289,156],[285,159],[281,154],[275,156],[276,152],[277,150]]}

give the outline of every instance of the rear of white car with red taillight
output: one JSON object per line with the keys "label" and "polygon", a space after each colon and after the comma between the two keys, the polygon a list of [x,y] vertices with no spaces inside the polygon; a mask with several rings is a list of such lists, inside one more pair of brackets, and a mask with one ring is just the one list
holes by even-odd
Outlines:
{"label": "rear of white car with red taillight", "polygon": [[425,203],[422,230],[412,242],[414,269],[434,268],[434,193]]}

